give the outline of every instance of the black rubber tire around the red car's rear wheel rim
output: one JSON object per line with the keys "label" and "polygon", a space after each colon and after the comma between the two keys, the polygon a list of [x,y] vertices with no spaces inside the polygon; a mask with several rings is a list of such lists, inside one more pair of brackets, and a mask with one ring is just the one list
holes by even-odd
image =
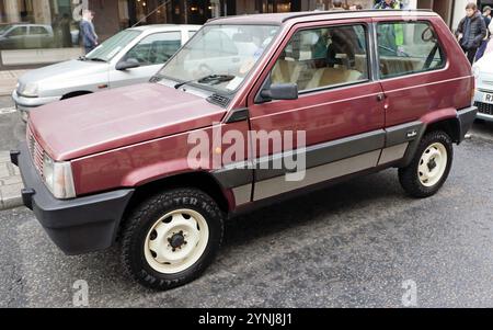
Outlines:
{"label": "black rubber tire around the red car's rear wheel rim", "polygon": [[[442,144],[447,150],[447,164],[440,180],[432,186],[424,185],[420,180],[419,166],[423,153],[434,144]],[[427,133],[420,141],[411,163],[399,169],[399,181],[404,191],[412,197],[426,198],[436,194],[447,181],[454,161],[454,145],[450,137],[443,130]]]}

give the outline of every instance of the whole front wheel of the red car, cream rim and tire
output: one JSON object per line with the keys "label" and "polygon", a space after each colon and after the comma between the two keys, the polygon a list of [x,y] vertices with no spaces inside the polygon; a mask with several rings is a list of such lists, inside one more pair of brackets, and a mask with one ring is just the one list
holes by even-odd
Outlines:
{"label": "whole front wheel of the red car, cream rim and tire", "polygon": [[195,189],[158,194],[140,204],[123,227],[122,260],[140,284],[170,289],[186,284],[213,262],[223,234],[223,214]]}

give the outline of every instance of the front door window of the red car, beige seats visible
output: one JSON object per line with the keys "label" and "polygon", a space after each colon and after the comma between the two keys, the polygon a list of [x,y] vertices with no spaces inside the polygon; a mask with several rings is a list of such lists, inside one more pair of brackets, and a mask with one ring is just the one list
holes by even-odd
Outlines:
{"label": "front door window of the red car, beige seats visible", "polygon": [[272,83],[296,83],[300,91],[368,80],[365,26],[297,32],[274,65],[271,79]]}

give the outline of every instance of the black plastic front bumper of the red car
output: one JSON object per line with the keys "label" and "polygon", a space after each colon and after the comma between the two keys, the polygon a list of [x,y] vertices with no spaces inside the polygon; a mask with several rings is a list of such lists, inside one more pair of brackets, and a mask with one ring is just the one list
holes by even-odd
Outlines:
{"label": "black plastic front bumper of the red car", "polygon": [[11,151],[21,170],[24,205],[31,208],[51,240],[67,254],[110,248],[134,190],[61,201],[53,196],[31,160],[26,144]]}

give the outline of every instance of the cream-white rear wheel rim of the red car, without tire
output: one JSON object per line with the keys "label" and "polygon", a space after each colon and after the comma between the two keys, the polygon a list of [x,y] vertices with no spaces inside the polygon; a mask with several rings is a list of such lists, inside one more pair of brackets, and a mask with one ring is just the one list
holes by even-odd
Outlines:
{"label": "cream-white rear wheel rim of the red car, without tire", "polygon": [[447,149],[440,143],[435,143],[423,152],[417,167],[417,178],[421,184],[431,187],[437,184],[447,169]]}

